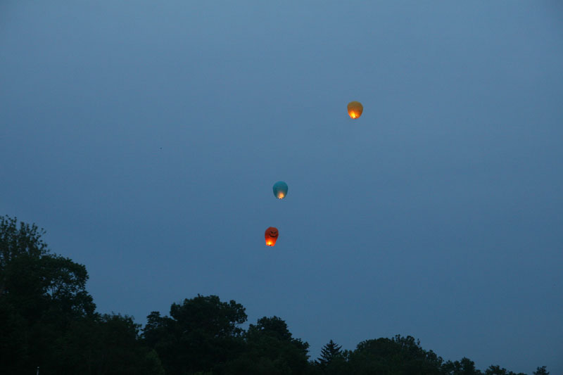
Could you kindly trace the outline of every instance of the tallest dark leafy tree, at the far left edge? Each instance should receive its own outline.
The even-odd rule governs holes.
[[[92,316],[83,265],[54,255],[35,224],[0,217],[0,364],[30,372],[53,357],[73,319]]]

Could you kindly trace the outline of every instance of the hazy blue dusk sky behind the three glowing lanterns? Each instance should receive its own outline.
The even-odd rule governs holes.
[[[563,374],[562,16],[1,1],[0,215],[141,324],[213,294],[281,317],[312,358],[401,334]]]

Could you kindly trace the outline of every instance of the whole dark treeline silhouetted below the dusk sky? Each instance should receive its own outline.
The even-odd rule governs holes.
[[[469,358],[444,361],[411,336],[375,338],[343,350],[329,341],[320,357],[283,319],[248,329],[234,300],[197,295],[150,312],[144,327],[100,314],[84,265],[51,253],[44,231],[0,217],[0,374],[381,374],[521,375]],[[549,374],[538,367],[534,375]]]

